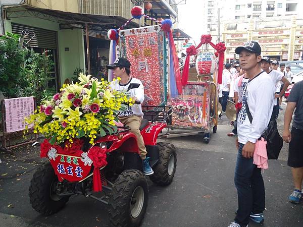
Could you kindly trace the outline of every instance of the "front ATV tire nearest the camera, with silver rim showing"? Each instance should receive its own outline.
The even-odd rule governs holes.
[[[109,196],[109,219],[114,226],[139,226],[148,201],[147,180],[141,171],[127,169],[114,183]]]

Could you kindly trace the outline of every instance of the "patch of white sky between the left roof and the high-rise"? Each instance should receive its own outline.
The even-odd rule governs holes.
[[[179,28],[186,34],[191,36],[196,44],[199,43],[200,37],[203,34],[207,34],[207,31],[201,29],[201,13],[203,13],[203,2],[206,0],[186,0],[186,4],[178,5],[179,14]],[[180,2],[180,0],[176,0]]]

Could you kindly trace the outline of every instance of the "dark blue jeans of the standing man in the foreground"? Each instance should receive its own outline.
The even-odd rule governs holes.
[[[235,168],[235,186],[238,192],[238,211],[235,221],[241,226],[249,222],[249,214],[262,213],[265,209],[265,188],[261,168],[253,164],[254,158],[244,158],[239,143],[239,151]]]

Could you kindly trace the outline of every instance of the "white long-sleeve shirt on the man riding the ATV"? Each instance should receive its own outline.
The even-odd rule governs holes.
[[[133,88],[129,90],[131,97],[136,97],[137,101],[140,103],[144,100],[144,88],[140,80],[136,78],[131,78],[131,80],[127,84],[120,84],[118,80],[111,82],[111,88],[117,91],[127,91],[130,84],[139,84],[138,88]],[[133,104],[129,106],[126,111],[120,112],[120,117],[129,117],[132,115],[137,115],[143,117],[142,106],[141,104]]]

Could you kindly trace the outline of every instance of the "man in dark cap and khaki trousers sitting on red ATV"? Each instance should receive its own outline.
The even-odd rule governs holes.
[[[112,65],[107,65],[108,69],[112,69],[115,77],[120,77],[121,80],[115,80],[111,82],[111,88],[113,90],[126,90],[130,92],[130,95],[135,103],[126,111],[119,113],[119,120],[125,126],[130,128],[130,132],[137,137],[139,154],[143,161],[143,173],[147,175],[154,174],[153,169],[149,165],[149,157],[146,157],[146,148],[144,145],[143,137],[140,133],[140,125],[143,120],[143,112],[141,103],[144,100],[144,88],[140,80],[130,76],[130,62],[125,58],[118,58]],[[134,88],[129,87],[130,84],[136,84]],[[130,89],[129,89],[130,88]]]

